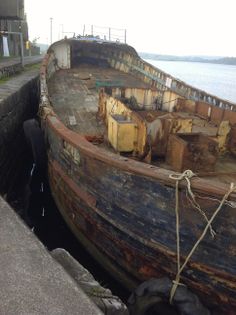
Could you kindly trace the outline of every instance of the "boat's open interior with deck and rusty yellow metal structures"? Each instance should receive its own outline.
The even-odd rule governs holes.
[[[132,73],[81,63],[48,84],[60,120],[94,145],[176,172],[236,181],[236,116],[158,91]],[[235,113],[234,113],[235,114]]]

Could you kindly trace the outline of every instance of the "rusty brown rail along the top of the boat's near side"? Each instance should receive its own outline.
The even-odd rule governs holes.
[[[87,141],[83,136],[67,128],[59,120],[55,113],[51,113],[47,116],[46,119],[49,126],[54,130],[55,133],[58,134],[58,136],[73,145],[75,148],[82,150],[88,156],[118,167],[123,171],[150,177],[160,181],[160,183],[164,185],[175,187],[175,180],[171,179],[169,176],[171,174],[176,174],[176,172],[145,164],[139,161],[134,161],[126,157],[118,156],[116,153],[108,152],[103,148],[98,148]],[[223,197],[225,193],[229,190],[229,185],[225,183],[208,180],[201,177],[193,177],[191,180],[191,185],[192,188],[196,190],[196,192],[214,197]],[[186,188],[186,182],[182,181],[180,183],[180,187]],[[230,199],[236,200],[236,193],[232,193]]]

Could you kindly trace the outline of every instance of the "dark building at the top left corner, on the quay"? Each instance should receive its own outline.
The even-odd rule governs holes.
[[[0,0],[0,32],[21,32],[24,47],[28,41],[28,24],[24,11],[24,0]],[[10,56],[20,56],[20,36],[17,34],[0,34],[0,56],[3,53],[3,38],[7,37]],[[6,39],[5,39],[6,45]],[[27,54],[25,52],[25,54]]]

